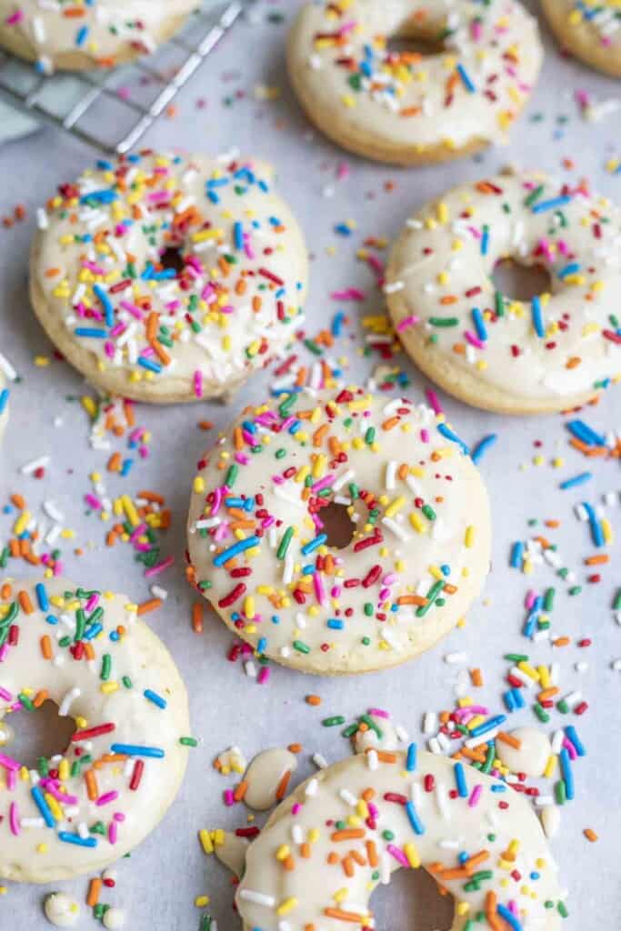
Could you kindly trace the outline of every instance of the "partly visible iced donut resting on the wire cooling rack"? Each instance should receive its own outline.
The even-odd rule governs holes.
[[[198,0],[0,0],[0,46],[49,74],[110,68],[153,52]]]

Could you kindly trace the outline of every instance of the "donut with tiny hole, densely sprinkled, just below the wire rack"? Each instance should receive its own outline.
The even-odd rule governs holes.
[[[101,160],[41,211],[34,312],[103,391],[222,397],[302,322],[304,239],[249,159],[144,152]]]

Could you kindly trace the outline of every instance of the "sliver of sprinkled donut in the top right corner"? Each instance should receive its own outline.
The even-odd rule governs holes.
[[[542,6],[563,48],[598,71],[621,77],[619,0],[543,0]]]

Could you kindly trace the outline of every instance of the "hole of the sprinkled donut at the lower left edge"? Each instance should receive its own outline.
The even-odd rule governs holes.
[[[59,707],[46,701],[40,708],[25,708],[4,719],[11,728],[7,752],[28,769],[36,769],[41,757],[49,760],[69,746],[76,727],[73,718],[61,718]]]

